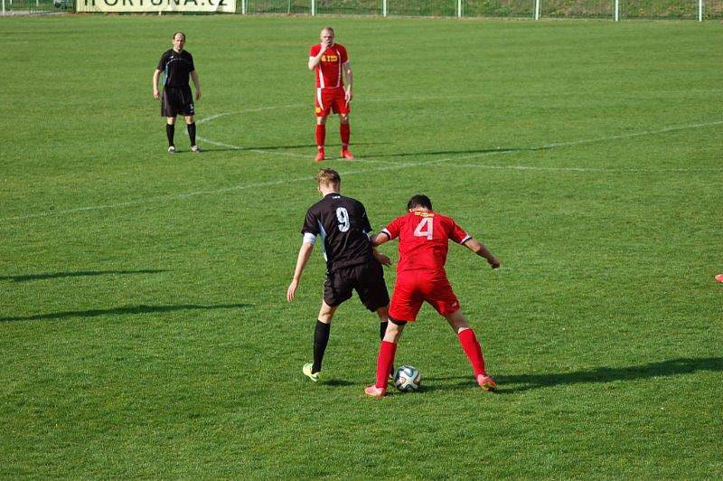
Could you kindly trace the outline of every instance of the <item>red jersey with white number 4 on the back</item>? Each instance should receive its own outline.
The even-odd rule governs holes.
[[[472,239],[456,222],[437,212],[409,212],[382,229],[390,239],[399,237],[397,272],[431,270],[445,272],[448,241],[462,244]]]

